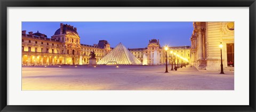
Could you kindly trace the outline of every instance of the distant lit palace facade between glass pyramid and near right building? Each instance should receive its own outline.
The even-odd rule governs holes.
[[[149,44],[145,48],[137,48],[137,49],[128,49],[132,52],[132,54],[138,58],[141,62],[145,62],[147,60],[147,65],[164,65],[165,64],[165,50],[164,47],[161,47],[159,44],[159,39],[151,39],[149,40]],[[170,47],[167,51],[167,64],[171,64],[171,53],[179,54],[181,57],[187,59],[190,62],[190,46],[174,46]],[[146,58],[143,58],[145,57]],[[144,61],[143,61],[144,59]],[[180,60],[181,63],[187,63],[185,60]],[[173,55],[173,62],[177,63],[177,58]],[[187,63],[188,64],[188,63]],[[145,65],[143,63],[143,65]]]

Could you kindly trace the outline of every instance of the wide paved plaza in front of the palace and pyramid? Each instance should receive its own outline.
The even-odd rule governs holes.
[[[165,66],[22,67],[22,90],[234,90],[234,72]]]

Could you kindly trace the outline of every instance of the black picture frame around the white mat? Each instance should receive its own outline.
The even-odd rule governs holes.
[[[0,0],[1,111],[255,111],[255,0]],[[13,106],[7,104],[7,7],[250,7],[250,105],[248,106]],[[248,66],[248,65],[245,65]]]

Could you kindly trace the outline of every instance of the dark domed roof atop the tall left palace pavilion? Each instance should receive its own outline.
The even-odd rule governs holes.
[[[78,34],[76,31],[76,27],[74,28],[73,26],[70,26],[67,24],[63,25],[63,23],[60,23],[60,28],[55,31],[54,35],[60,35],[61,28],[62,28],[62,34],[69,34],[69,33]]]

